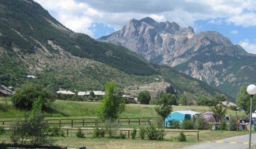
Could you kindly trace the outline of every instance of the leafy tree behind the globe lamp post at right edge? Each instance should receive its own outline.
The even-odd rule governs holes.
[[[256,96],[253,96],[253,101],[256,100]],[[244,109],[246,115],[249,114],[250,108],[251,108],[251,95],[247,93],[246,87],[241,87],[240,92],[237,94],[237,100],[236,100],[237,107],[240,107]],[[253,102],[252,110],[254,111],[256,109],[256,102]]]

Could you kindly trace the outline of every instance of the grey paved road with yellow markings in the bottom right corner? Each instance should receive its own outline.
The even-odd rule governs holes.
[[[256,134],[252,134],[251,145],[256,144]],[[209,140],[210,141],[210,140]],[[216,143],[223,142],[223,143]],[[225,142],[237,142],[236,144],[225,143]],[[214,140],[214,142],[206,142],[201,144],[196,144],[188,146],[182,149],[245,149],[248,148],[248,144],[243,144],[244,142],[249,142],[249,135],[240,135],[236,137]]]

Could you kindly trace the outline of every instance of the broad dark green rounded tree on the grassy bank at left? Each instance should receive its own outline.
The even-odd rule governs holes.
[[[15,107],[31,109],[35,100],[40,98],[42,104],[53,102],[56,96],[52,92],[44,89],[41,85],[35,83],[23,84],[21,89],[12,96],[12,102]]]

